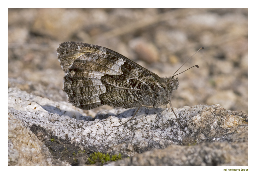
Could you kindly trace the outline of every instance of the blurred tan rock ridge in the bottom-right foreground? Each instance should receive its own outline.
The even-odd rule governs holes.
[[[248,134],[247,134],[248,136]],[[165,149],[136,154],[108,166],[248,166],[248,143],[202,143],[170,145]]]

